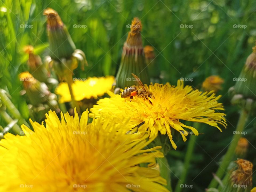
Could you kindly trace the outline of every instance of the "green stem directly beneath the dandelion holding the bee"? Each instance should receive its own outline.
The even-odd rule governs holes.
[[[162,146],[161,151],[162,151],[163,154],[165,154],[165,153],[164,153],[165,150],[164,150],[164,148],[163,148],[164,146],[163,146],[163,144],[162,144],[162,142],[161,142],[161,139],[160,139],[160,136],[159,136],[159,135],[157,136],[157,138],[155,138],[154,142],[155,142],[155,144],[156,144],[157,146]],[[160,175],[161,175],[163,178],[165,178],[166,181],[167,181],[167,186],[166,186],[166,188],[167,188],[170,192],[172,192],[173,190],[171,189],[171,169],[170,169],[170,166],[169,166],[169,164],[168,164],[168,161],[167,161],[166,156],[164,156],[164,157],[162,157],[162,158],[159,158],[158,161],[157,161],[157,163],[159,164]]]

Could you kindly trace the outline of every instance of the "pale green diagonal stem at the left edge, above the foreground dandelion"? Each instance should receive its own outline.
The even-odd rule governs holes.
[[[19,125],[26,125],[27,127],[30,128],[29,124],[25,119],[22,118],[21,114],[19,113],[18,109],[15,107],[15,105],[11,102],[11,100],[7,97],[5,94],[5,91],[3,89],[0,89],[0,97],[2,103],[5,104],[6,108],[10,112],[10,114],[14,117],[14,119],[18,119],[18,124]]]

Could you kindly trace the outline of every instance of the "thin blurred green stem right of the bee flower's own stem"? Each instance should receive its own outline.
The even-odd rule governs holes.
[[[195,125],[199,125],[199,124],[195,124]],[[187,145],[187,152],[185,155],[183,170],[181,173],[180,180],[178,181],[178,183],[176,185],[175,192],[181,192],[183,188],[181,188],[180,185],[185,184],[185,182],[186,182],[187,173],[189,172],[190,161],[191,161],[194,149],[195,149],[197,137],[198,136],[191,135],[189,138],[189,143]]]

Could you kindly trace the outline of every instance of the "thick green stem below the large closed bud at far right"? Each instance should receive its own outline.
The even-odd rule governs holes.
[[[219,169],[217,170],[216,172],[216,176],[218,178],[222,178],[223,175],[225,174],[226,172],[226,169],[227,167],[229,166],[230,164],[230,161],[232,160],[232,157],[234,155],[234,152],[235,152],[235,148],[237,146],[237,143],[238,143],[238,140],[239,138],[241,137],[241,132],[243,131],[243,129],[245,128],[245,123],[247,121],[247,117],[248,117],[248,112],[245,111],[244,109],[242,109],[241,113],[240,113],[240,117],[239,117],[239,120],[238,120],[238,123],[237,123],[237,128],[236,128],[236,133],[237,134],[234,134],[233,136],[233,139],[231,141],[231,144],[229,145],[229,148],[223,158],[223,160],[221,161],[221,165],[219,167]],[[217,188],[218,186],[218,182],[217,180],[215,180],[214,178],[211,180],[211,183],[210,185],[208,186],[208,188]]]

